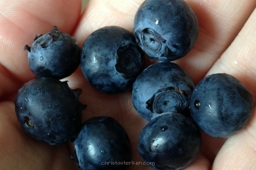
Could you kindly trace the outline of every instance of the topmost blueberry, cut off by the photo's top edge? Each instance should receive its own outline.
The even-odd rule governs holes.
[[[136,41],[152,61],[184,57],[198,32],[196,15],[183,0],[145,0],[134,19]]]

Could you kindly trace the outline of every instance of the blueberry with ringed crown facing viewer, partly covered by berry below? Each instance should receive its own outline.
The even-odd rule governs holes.
[[[183,68],[172,62],[159,62],[146,68],[134,82],[133,106],[148,121],[163,112],[187,114],[194,87]]]

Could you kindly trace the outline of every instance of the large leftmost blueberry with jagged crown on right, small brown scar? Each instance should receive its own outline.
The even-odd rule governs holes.
[[[23,130],[32,138],[50,145],[73,139],[81,128],[81,89],[51,77],[28,81],[18,92],[15,111]]]

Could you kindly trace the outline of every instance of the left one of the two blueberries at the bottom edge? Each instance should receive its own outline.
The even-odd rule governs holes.
[[[72,159],[80,170],[126,170],[128,165],[124,162],[130,162],[132,157],[128,135],[112,117],[85,121],[74,143]]]

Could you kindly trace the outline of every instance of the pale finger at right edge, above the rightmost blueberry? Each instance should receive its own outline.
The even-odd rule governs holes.
[[[207,73],[229,73],[240,80],[252,93],[256,104],[256,10],[231,46]]]

